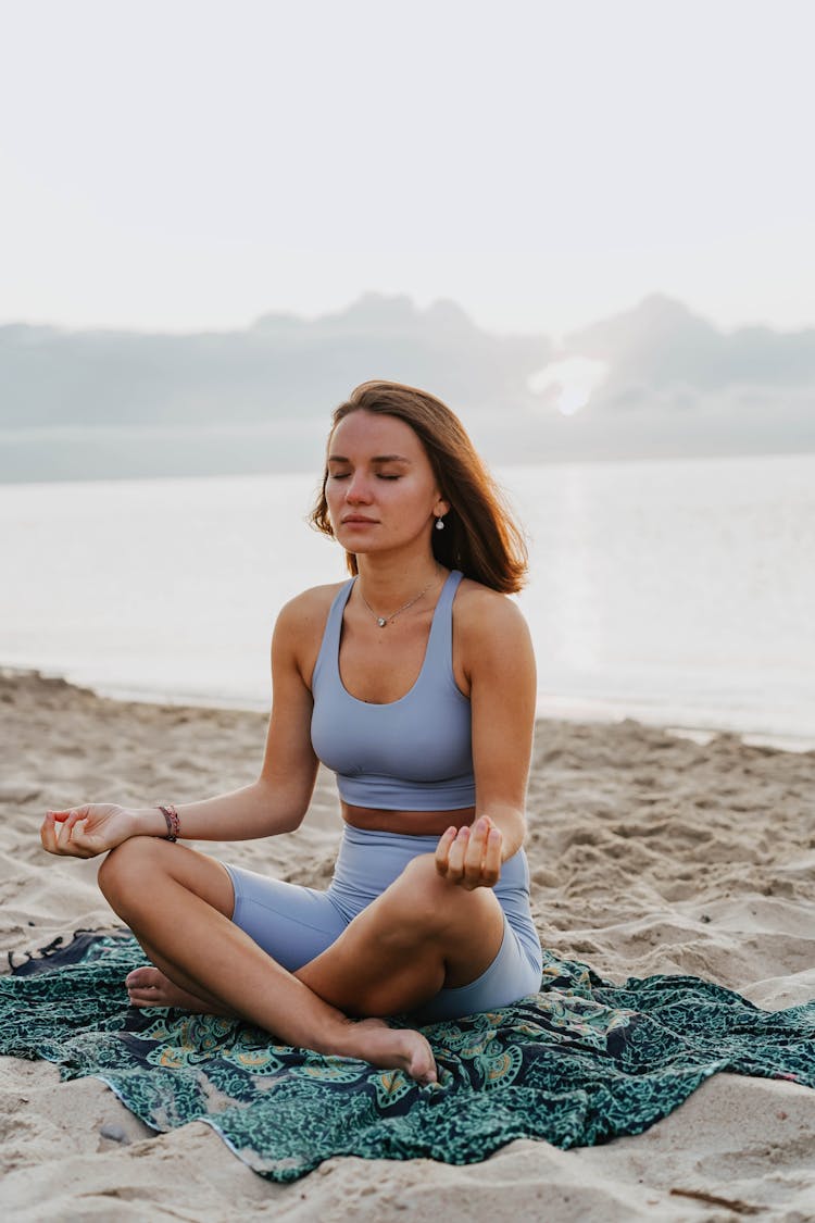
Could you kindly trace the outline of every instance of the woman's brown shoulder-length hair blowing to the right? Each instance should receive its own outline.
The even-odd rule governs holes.
[[[395,416],[409,424],[422,442],[439,490],[450,503],[445,530],[431,534],[436,560],[494,591],[505,594],[519,591],[528,566],[523,534],[455,412],[415,386],[367,382],[335,408],[331,433],[340,421],[358,411]],[[332,536],[325,498],[327,475],[326,467],[309,522]],[[358,572],[354,553],[346,553],[346,559],[349,572]]]

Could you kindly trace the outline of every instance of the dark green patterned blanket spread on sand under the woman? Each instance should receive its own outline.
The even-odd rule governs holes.
[[[613,986],[547,954],[538,994],[423,1029],[440,1081],[419,1087],[238,1021],[128,1008],[122,978],[144,963],[114,932],[12,966],[0,1053],[95,1075],[155,1130],[205,1121],[272,1180],[331,1156],[461,1164],[519,1137],[569,1147],[639,1134],[717,1070],[815,1087],[815,1002],[764,1011],[696,977]]]

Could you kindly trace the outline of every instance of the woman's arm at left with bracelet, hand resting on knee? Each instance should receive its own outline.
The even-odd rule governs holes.
[[[277,618],[271,640],[272,709],[260,775],[230,794],[180,805],[185,840],[249,840],[292,832],[302,823],[318,769],[310,737],[312,693],[302,659],[308,658],[319,632],[319,610],[309,591]],[[166,833],[166,821],[155,806],[92,804],[48,812],[40,838],[51,854],[94,857],[130,837]]]

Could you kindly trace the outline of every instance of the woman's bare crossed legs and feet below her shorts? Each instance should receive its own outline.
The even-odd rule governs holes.
[[[419,1032],[393,1030],[375,1018],[352,1022],[347,1014],[412,1010],[445,983],[475,980],[497,954],[503,932],[492,892],[447,883],[429,855],[408,863],[296,974],[232,923],[226,870],[194,850],[132,838],[109,854],[99,883],[155,965],[131,974],[134,1004],[237,1015],[287,1043],[400,1066],[428,1082],[435,1065]],[[149,976],[156,970],[160,977]]]

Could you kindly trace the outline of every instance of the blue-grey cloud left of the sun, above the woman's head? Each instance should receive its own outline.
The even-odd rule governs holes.
[[[0,328],[0,426],[326,418],[357,383],[389,378],[451,404],[512,410],[549,360],[545,336],[479,330],[450,301],[417,309],[367,294],[314,320],[268,314],[241,331],[189,335]]]

